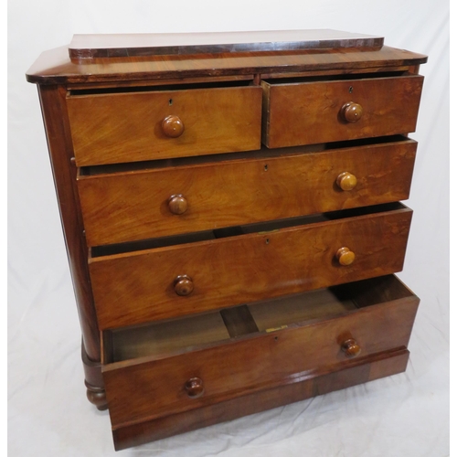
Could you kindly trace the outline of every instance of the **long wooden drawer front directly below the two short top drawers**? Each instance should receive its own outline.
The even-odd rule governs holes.
[[[297,148],[275,157],[80,176],[86,239],[98,246],[405,200],[416,148],[411,140],[319,153]],[[344,173],[356,177],[354,187],[338,181]],[[184,201],[184,212],[176,200]]]

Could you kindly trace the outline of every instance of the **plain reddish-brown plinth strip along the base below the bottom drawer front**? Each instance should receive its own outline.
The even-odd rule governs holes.
[[[409,351],[404,348],[375,356],[347,360],[333,367],[332,372],[312,371],[297,382],[269,388],[243,397],[208,404],[163,418],[141,423],[125,423],[113,427],[114,446],[117,451],[148,441],[161,440],[178,433],[196,430],[266,409],[278,408],[294,401],[310,399],[328,392],[349,388],[379,377],[388,377],[406,370]]]

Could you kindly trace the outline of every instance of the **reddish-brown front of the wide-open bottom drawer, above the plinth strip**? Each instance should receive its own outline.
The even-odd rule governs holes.
[[[343,346],[351,338],[361,349],[356,359],[405,347],[418,303],[417,297],[409,296],[342,317],[296,324],[191,353],[106,366],[103,377],[112,427],[200,408],[332,371],[348,363]],[[197,386],[186,390],[191,379]],[[196,397],[189,397],[192,394]]]

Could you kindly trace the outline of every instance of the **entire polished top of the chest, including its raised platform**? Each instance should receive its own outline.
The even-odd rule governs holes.
[[[69,46],[43,52],[27,71],[27,80],[108,83],[235,75],[249,80],[253,73],[268,76],[281,71],[291,76],[315,69],[376,70],[427,61],[423,54],[383,43],[383,37],[335,30],[75,35]]]

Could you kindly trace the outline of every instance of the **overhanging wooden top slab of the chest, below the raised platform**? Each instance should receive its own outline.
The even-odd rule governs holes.
[[[37,62],[27,71],[27,80],[38,84],[90,84],[123,81],[147,81],[175,79],[180,82],[188,78],[221,77],[232,75],[278,74],[304,71],[359,70],[415,67],[427,61],[427,56],[405,49],[383,46],[376,51],[355,52],[354,49],[338,49],[321,52],[310,49],[299,54],[252,52],[246,56],[229,53],[217,56],[203,55],[200,58],[167,57],[156,58],[94,58],[81,64],[69,59],[67,47],[52,49],[41,54]]]

